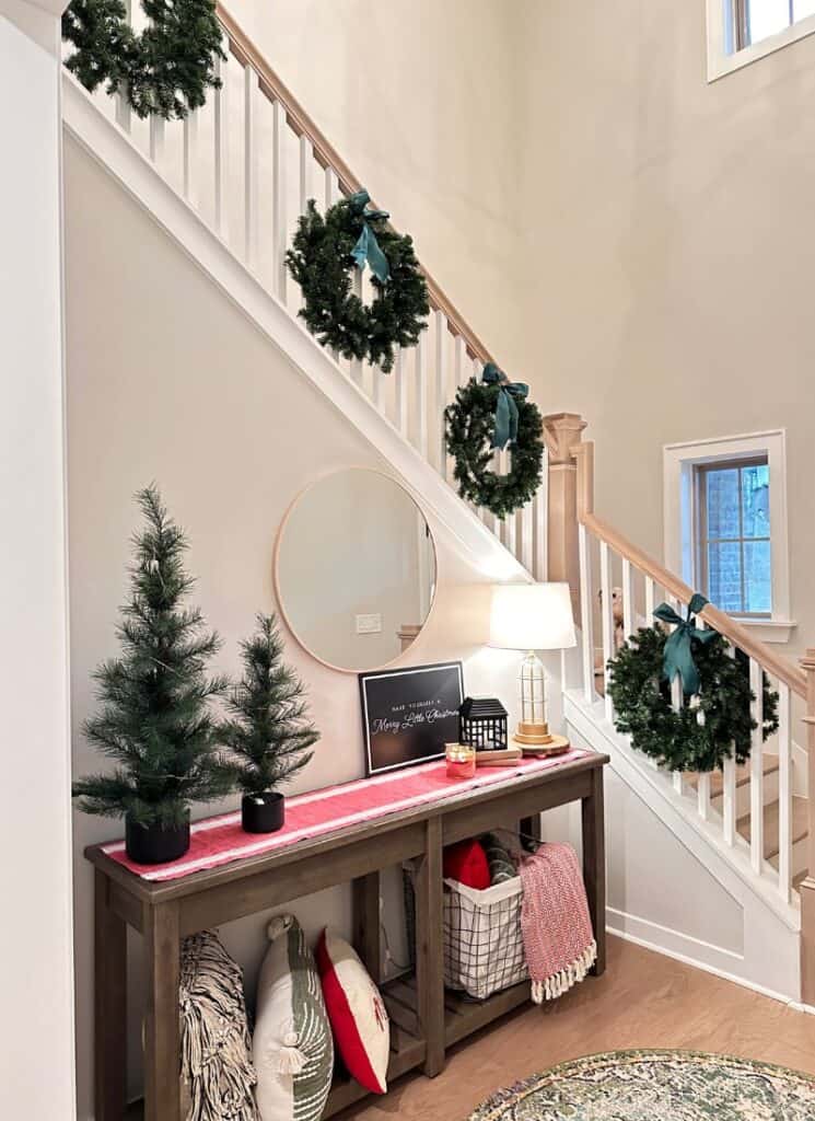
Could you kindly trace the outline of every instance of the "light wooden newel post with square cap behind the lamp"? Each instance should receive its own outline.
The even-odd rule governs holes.
[[[578,453],[587,421],[579,413],[551,413],[543,418],[549,461],[547,576],[569,584],[575,617],[580,610],[578,557]]]

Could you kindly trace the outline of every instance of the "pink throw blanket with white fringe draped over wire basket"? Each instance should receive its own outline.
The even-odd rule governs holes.
[[[571,845],[543,844],[519,863],[521,932],[536,1004],[568,992],[597,958],[583,877]]]

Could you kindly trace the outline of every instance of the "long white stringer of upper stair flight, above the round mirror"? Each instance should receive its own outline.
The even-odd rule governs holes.
[[[435,517],[485,577],[532,578],[456,491],[343,373],[328,351],[241,263],[68,73],[63,75],[63,123],[71,137],[390,463],[423,509]]]

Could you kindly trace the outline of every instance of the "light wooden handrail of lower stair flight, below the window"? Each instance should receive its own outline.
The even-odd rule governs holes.
[[[681,600],[682,603],[690,603],[694,593],[693,589],[684,580],[668,572],[658,560],[648,556],[639,546],[634,545],[633,541],[629,541],[628,538],[624,537],[612,526],[609,526],[594,515],[591,485],[594,470],[593,442],[586,441],[578,444],[574,447],[574,454],[578,461],[578,521],[582,526],[586,526],[596,537],[599,537],[601,541],[610,546],[615,553],[629,560],[635,568],[639,568],[646,576],[649,576],[655,584],[664,587],[668,594]],[[799,697],[806,698],[806,674],[803,669],[799,669],[794,663],[777,655],[766,642],[755,638],[732,615],[721,611],[712,603],[709,603],[700,611],[700,617],[710,623],[714,630],[719,631],[720,634],[723,634],[733,646],[738,646],[740,650],[743,650],[744,654],[753,658],[780,682],[788,685]]]

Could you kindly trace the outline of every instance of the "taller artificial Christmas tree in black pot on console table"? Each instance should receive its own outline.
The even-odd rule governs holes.
[[[133,537],[131,597],[116,628],[122,652],[94,674],[102,706],[84,725],[119,766],[74,782],[73,795],[87,814],[124,815],[129,855],[154,863],[186,852],[189,804],[228,794],[235,772],[217,752],[209,707],[228,682],[205,674],[221,643],[200,611],[182,606],[194,584],[184,531],[154,487],[137,500],[147,527]]]

